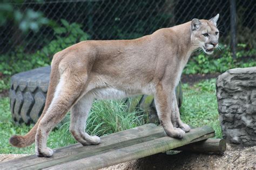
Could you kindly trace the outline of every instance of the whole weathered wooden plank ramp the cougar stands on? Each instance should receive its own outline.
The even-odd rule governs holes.
[[[214,130],[208,126],[192,129],[183,139],[174,139],[167,137],[161,126],[146,124],[101,137],[99,145],[61,147],[54,150],[51,158],[29,155],[3,162],[0,169],[98,169],[196,144],[210,137],[214,137]]]

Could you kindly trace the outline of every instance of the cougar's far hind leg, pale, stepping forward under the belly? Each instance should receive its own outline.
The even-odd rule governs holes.
[[[70,132],[73,137],[82,145],[97,145],[100,138],[85,133],[86,120],[89,115],[93,96],[85,94],[71,109]]]

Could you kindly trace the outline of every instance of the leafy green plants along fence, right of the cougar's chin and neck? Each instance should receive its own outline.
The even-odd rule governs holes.
[[[238,44],[238,47],[237,60],[233,60],[230,47],[225,45],[220,45],[221,51],[219,52],[219,58],[205,53],[192,56],[183,70],[183,73],[223,73],[231,68],[256,66],[256,49],[247,51],[246,44]]]

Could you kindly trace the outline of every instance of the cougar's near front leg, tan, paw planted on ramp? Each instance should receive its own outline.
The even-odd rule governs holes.
[[[172,94],[173,90],[170,87],[159,85],[154,95],[154,102],[156,103],[158,118],[165,133],[173,138],[183,138],[185,132],[180,128],[174,128],[171,122],[173,95],[170,94]]]

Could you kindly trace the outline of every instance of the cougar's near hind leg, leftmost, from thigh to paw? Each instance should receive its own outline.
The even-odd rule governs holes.
[[[83,75],[80,74],[79,77],[77,75],[73,71],[66,70],[60,76],[50,107],[37,128],[36,154],[38,157],[51,157],[53,151],[46,147],[49,133],[64,118],[83,91],[87,80],[86,72]]]

